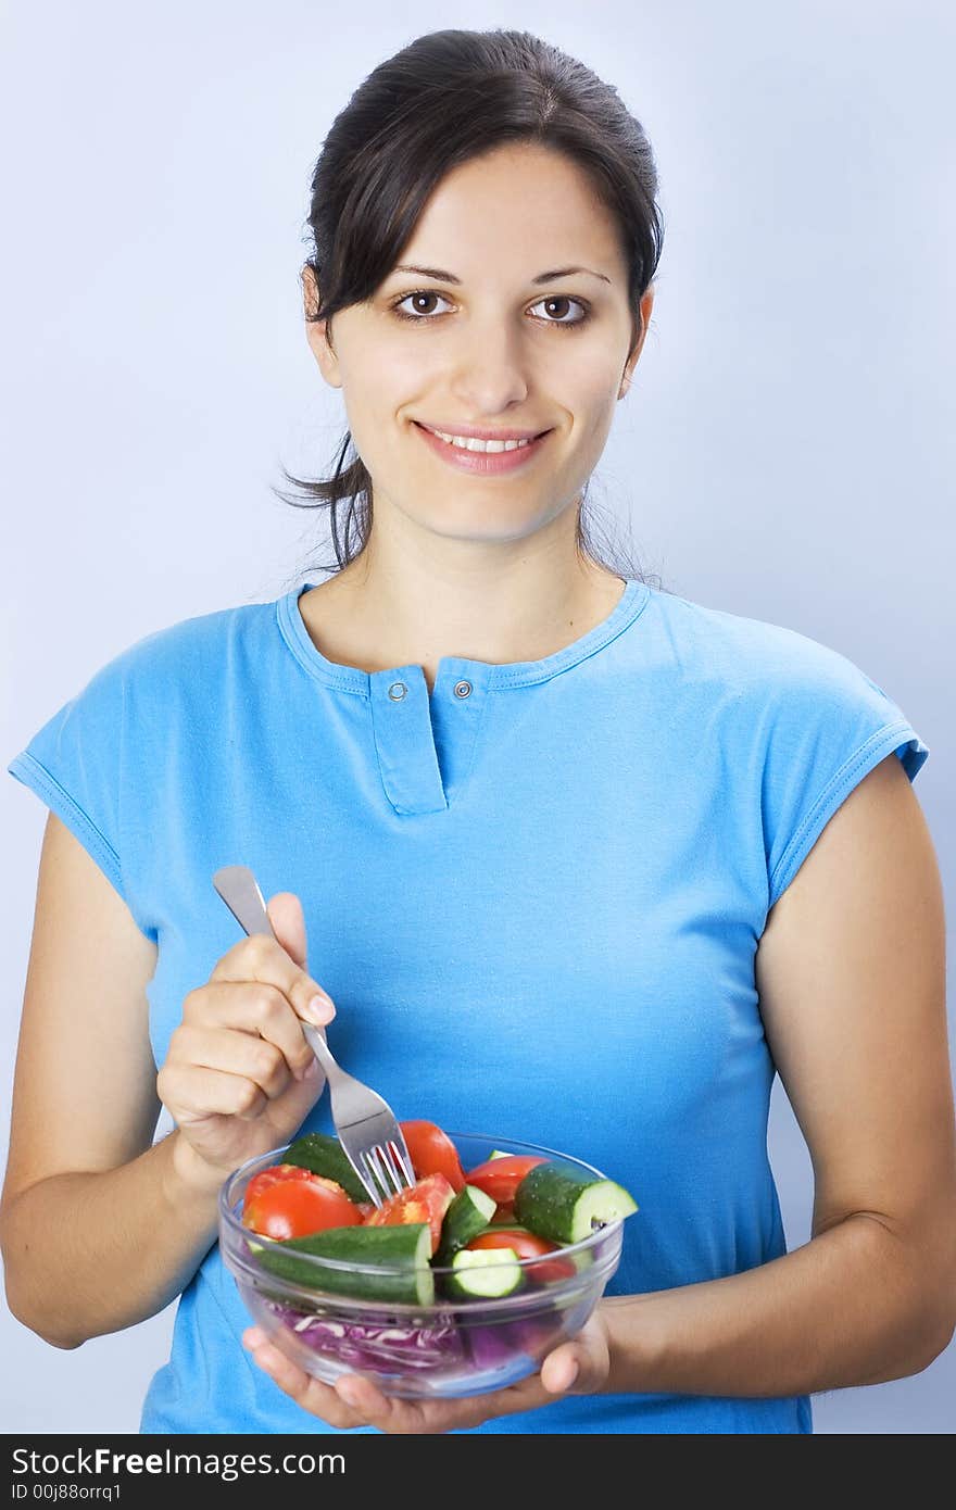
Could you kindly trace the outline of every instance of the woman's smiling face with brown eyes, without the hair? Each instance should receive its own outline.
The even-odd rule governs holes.
[[[310,269],[305,294],[314,308]],[[529,143],[449,172],[397,267],[329,328],[334,350],[325,322],[308,341],[343,390],[376,516],[474,541],[524,538],[580,497],[643,344],[616,222],[571,159]],[[500,470],[427,433],[456,427],[547,435]]]

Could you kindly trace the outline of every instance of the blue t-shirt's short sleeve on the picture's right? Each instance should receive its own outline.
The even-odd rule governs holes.
[[[929,757],[882,687],[837,651],[805,643],[813,654],[782,678],[766,723],[767,911],[868,772],[894,753],[912,782]]]

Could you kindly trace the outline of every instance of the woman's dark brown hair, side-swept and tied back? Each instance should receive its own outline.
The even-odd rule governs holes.
[[[628,266],[634,340],[640,300],[663,246],[654,154],[618,91],[591,68],[530,32],[441,30],[418,36],[379,63],[335,116],[313,169],[308,240],[319,305],[307,320],[370,299],[396,264],[430,193],[444,175],[510,142],[532,142],[571,157],[616,217]],[[304,284],[305,290],[305,284]],[[328,479],[302,480],[282,468],[299,497],[273,492],[298,509],[328,509],[341,571],[372,532],[372,477],[349,447],[349,430]],[[619,554],[603,556],[584,516],[575,545],[628,580],[648,577]],[[304,501],[305,500],[305,501]],[[344,519],[340,510],[344,506]],[[657,580],[657,578],[654,578]]]

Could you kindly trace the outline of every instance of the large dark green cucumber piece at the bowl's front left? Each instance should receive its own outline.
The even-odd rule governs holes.
[[[381,1265],[381,1273],[358,1268],[319,1268],[299,1258],[332,1258],[344,1264]],[[263,1268],[293,1285],[304,1285],[353,1300],[399,1300],[430,1306],[435,1299],[435,1276],[429,1267],[432,1229],[427,1222],[400,1226],[326,1228],[308,1237],[290,1237],[273,1247],[261,1247]]]

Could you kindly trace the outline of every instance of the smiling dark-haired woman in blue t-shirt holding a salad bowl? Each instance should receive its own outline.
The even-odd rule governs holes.
[[[661,245],[612,88],[526,33],[423,36],[334,122],[310,225],[308,341],[358,451],[310,485],[338,569],[131,646],[9,767],[51,808],[11,1305],[76,1347],[183,1291],[145,1431],[811,1431],[814,1391],[953,1330],[927,747],[835,651],[586,548]],[[236,862],[278,942],[236,942],[210,882]],[[248,1326],[216,1193],[328,1128],[310,1015],[399,1116],[634,1193],[539,1374],[387,1400]],[[775,1071],[816,1178],[791,1253]]]

